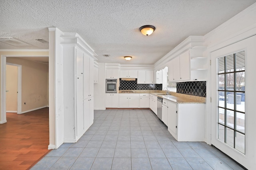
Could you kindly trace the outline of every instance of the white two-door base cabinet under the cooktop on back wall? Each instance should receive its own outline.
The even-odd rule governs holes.
[[[138,108],[139,94],[119,94],[120,108]]]

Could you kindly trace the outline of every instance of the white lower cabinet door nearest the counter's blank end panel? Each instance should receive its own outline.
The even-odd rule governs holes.
[[[177,134],[177,104],[168,102],[168,131]]]

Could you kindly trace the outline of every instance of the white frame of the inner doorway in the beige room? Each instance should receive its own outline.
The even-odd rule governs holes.
[[[21,86],[22,86],[22,65],[19,64],[13,64],[13,63],[6,63],[6,65],[11,65],[11,66],[17,66],[18,67],[18,89],[17,89],[17,114],[21,114],[21,96],[22,96],[22,91],[21,91]],[[6,70],[6,69],[5,69]],[[5,74],[6,75],[6,74]],[[6,78],[5,78],[6,80]],[[6,101],[6,99],[5,99]]]

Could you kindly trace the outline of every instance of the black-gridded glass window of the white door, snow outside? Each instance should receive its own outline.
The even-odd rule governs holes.
[[[244,54],[218,59],[218,139],[245,154]]]

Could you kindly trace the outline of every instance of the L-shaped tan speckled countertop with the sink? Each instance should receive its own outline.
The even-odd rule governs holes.
[[[198,97],[198,96],[191,96],[186,94],[179,94],[176,92],[169,92],[170,95],[165,95],[166,91],[162,90],[120,90],[120,94],[122,91],[132,91],[133,93],[150,93],[154,94],[160,98],[170,100],[171,102],[175,102],[177,104],[204,104],[206,103],[206,98]]]

